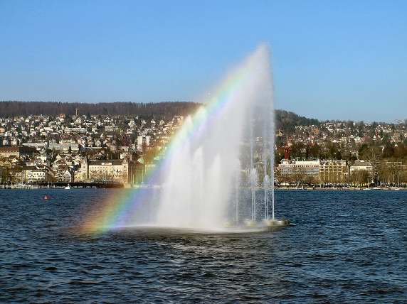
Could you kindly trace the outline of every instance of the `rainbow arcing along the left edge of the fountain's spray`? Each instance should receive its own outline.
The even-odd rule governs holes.
[[[171,158],[182,151],[186,139],[199,136],[205,126],[210,125],[213,119],[221,115],[223,110],[231,104],[234,94],[238,91],[242,82],[248,77],[245,65],[239,67],[226,78],[223,85],[218,87],[216,94],[206,102],[206,107],[201,107],[195,114],[190,116],[189,122],[182,124],[181,128],[171,137],[169,145],[159,152],[159,163],[145,173],[147,184],[154,185],[160,172],[168,168]],[[137,206],[145,201],[148,191],[142,188],[123,190],[119,194],[114,191],[106,197],[102,204],[93,205],[93,210],[88,211],[88,217],[83,220],[80,227],[85,234],[102,234],[110,229],[125,227],[131,222],[129,217],[134,214]]]

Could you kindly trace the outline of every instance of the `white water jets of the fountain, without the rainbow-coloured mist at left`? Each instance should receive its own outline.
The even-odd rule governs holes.
[[[166,156],[166,165],[162,170],[162,192],[154,225],[213,230],[231,226],[231,222],[235,227],[240,224],[240,170],[236,170],[236,163],[239,163],[245,129],[250,129],[248,178],[251,214],[250,218],[244,221],[244,226],[288,224],[275,219],[274,212],[273,111],[273,79],[270,74],[269,51],[265,45],[261,45],[226,77],[206,107],[185,119],[181,130],[173,139]],[[256,188],[260,171],[255,168],[253,156],[253,121],[262,115],[265,214],[263,222],[258,222]],[[268,157],[270,176],[267,174]],[[268,217],[268,193],[271,193],[271,219]],[[232,216],[228,212],[231,202],[234,204]]]

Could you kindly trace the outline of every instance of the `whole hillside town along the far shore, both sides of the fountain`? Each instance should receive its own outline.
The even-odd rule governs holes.
[[[290,120],[292,113],[281,111],[276,116],[276,186],[406,187],[407,121]],[[183,121],[184,116],[176,114],[78,111],[0,118],[1,187],[142,185]],[[264,175],[262,141],[255,139],[259,187]],[[244,159],[243,185],[248,183]]]

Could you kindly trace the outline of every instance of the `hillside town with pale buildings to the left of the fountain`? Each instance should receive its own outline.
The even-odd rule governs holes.
[[[182,120],[80,114],[0,119],[0,181],[4,187],[139,185]]]

